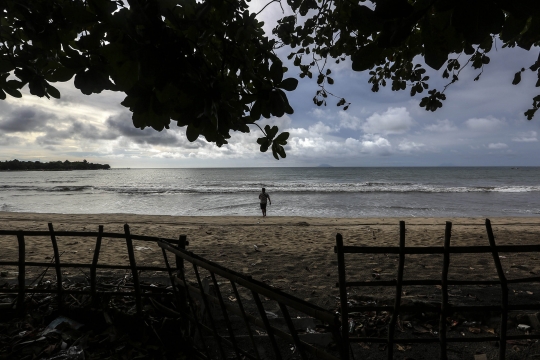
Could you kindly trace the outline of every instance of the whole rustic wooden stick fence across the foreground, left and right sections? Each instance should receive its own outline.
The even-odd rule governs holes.
[[[109,233],[99,226],[97,232],[55,231],[49,224],[49,231],[12,231],[0,230],[0,236],[14,236],[19,245],[17,261],[0,261],[0,266],[17,266],[19,269],[18,288],[0,288],[0,293],[17,295],[17,310],[25,311],[24,303],[27,294],[46,293],[56,294],[59,307],[67,295],[84,294],[93,299],[99,296],[132,296],[135,298],[137,312],[142,313],[141,299],[160,296],[168,293],[177,301],[174,311],[185,321],[186,334],[192,339],[195,350],[200,358],[226,359],[230,356],[249,359],[282,359],[297,355],[302,359],[315,357],[326,360],[347,360],[350,358],[351,344],[358,342],[379,343],[387,345],[387,357],[394,356],[394,345],[404,343],[440,344],[440,358],[447,359],[447,344],[453,342],[499,342],[499,359],[506,356],[506,342],[509,340],[540,339],[540,335],[509,335],[507,329],[508,313],[511,311],[540,310],[538,303],[509,304],[508,286],[511,284],[527,284],[540,282],[539,276],[528,278],[507,279],[499,259],[500,253],[540,252],[539,245],[496,245],[491,223],[486,220],[489,246],[451,246],[452,223],[446,223],[444,245],[435,247],[406,247],[405,223],[400,222],[399,246],[394,247],[358,247],[345,246],[341,234],[336,236],[334,248],[338,258],[338,283],[340,294],[340,312],[332,313],[302,299],[282,292],[264,282],[252,279],[250,276],[232,271],[212,261],[204,259],[190,251],[185,235],[179,239],[163,239],[152,236],[141,236],[130,233],[128,225],[124,233]],[[26,241],[30,237],[49,237],[54,251],[51,262],[27,261]],[[93,237],[95,248],[91,263],[62,262],[58,248],[60,237]],[[99,264],[99,256],[103,239],[124,240],[129,255],[129,265]],[[162,250],[164,266],[137,265],[133,240],[151,241]],[[451,280],[448,279],[450,254],[491,254],[497,270],[497,280]],[[397,254],[397,276],[394,280],[350,281],[345,271],[345,254]],[[441,254],[443,266],[439,279],[405,280],[404,263],[406,255],[412,254]],[[171,265],[169,258],[174,257],[175,264]],[[186,266],[187,265],[187,266]],[[56,272],[56,287],[53,289],[36,289],[26,285],[26,269],[28,267],[51,267]],[[90,269],[90,287],[83,290],[67,289],[63,286],[63,268]],[[97,286],[98,269],[129,270],[133,283],[116,287]],[[163,271],[169,277],[172,290],[156,289],[141,284],[140,271]],[[440,302],[429,304],[402,303],[402,290],[410,285],[440,286]],[[449,286],[495,285],[501,288],[500,305],[457,305],[450,302]],[[394,287],[393,305],[349,305],[348,291],[355,287]],[[360,337],[349,333],[349,317],[352,312],[387,311],[391,313],[386,337]],[[396,337],[395,330],[400,314],[410,311],[429,311],[438,314],[438,338],[401,338]],[[458,311],[497,312],[501,314],[500,331],[498,336],[481,337],[450,337],[446,325],[446,317]],[[279,315],[278,315],[279,314]],[[308,320],[312,328],[299,326],[299,321]],[[313,334],[313,328],[319,332]],[[304,331],[302,331],[304,330]],[[311,330],[311,331],[307,331]],[[310,336],[325,337],[328,342],[335,344],[333,349],[317,345]],[[291,345],[292,344],[292,345]],[[232,354],[232,355],[231,355]]]

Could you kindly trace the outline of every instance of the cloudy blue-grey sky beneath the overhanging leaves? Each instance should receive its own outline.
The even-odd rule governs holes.
[[[264,2],[252,1],[258,11]],[[283,16],[277,5],[261,14],[270,34]],[[104,91],[86,96],[72,81],[56,83],[60,100],[8,96],[0,101],[0,160],[70,160],[110,164],[113,168],[272,167],[272,166],[540,166],[540,114],[529,121],[537,76],[527,70],[517,86],[514,73],[538,58],[538,48],[501,49],[489,54],[491,63],[480,81],[478,70],[466,68],[445,94],[443,108],[427,112],[419,107],[422,96],[409,90],[371,92],[366,73],[354,72],[347,60],[330,63],[335,84],[328,89],[350,103],[347,111],[329,99],[317,107],[312,98],[315,80],[300,79],[288,98],[294,114],[261,118],[259,124],[278,125],[291,136],[287,158],[275,160],[261,153],[261,133],[232,133],[229,144],[218,148],[203,138],[190,143],[185,128],[136,129],[131,113],[120,105],[124,96]],[[288,50],[280,49],[285,59]],[[430,85],[439,90],[447,83],[440,72],[428,71]],[[298,78],[292,65],[286,77]],[[421,94],[422,95],[422,94]]]

